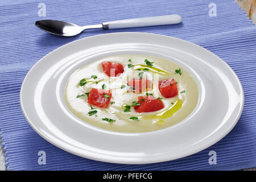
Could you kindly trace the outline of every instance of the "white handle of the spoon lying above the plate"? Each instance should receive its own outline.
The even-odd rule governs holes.
[[[104,25],[104,29],[113,29],[113,28],[159,26],[164,24],[177,24],[180,22],[181,22],[180,15],[164,15],[164,16],[152,16],[147,18],[114,20],[114,21],[105,22],[102,24]]]

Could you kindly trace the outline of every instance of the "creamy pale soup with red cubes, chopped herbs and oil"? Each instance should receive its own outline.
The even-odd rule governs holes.
[[[106,62],[107,66],[121,65],[117,68],[113,64],[109,76],[108,68],[102,67]],[[115,75],[115,69],[121,73]],[[75,71],[67,81],[64,97],[68,109],[90,125],[139,133],[164,129],[185,119],[195,109],[199,91],[193,77],[169,60],[122,55]]]

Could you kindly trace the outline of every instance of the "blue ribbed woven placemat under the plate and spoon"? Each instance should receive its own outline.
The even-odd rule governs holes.
[[[232,0],[214,0],[216,16],[209,16],[210,1],[1,1],[0,6],[0,129],[10,170],[38,169],[241,169],[256,167],[256,28]],[[43,6],[41,6],[43,7]],[[44,13],[39,11],[39,13]],[[86,31],[73,38],[49,35],[35,27],[40,19],[58,19],[79,25],[143,16],[179,14],[183,23],[172,26]],[[237,125],[220,142],[195,155],[170,162],[122,165],[96,162],[69,154],[46,142],[28,125],[19,105],[24,76],[41,57],[59,46],[91,35],[139,31],[171,35],[199,44],[220,56],[240,78],[245,107]],[[46,164],[38,164],[38,152]],[[216,151],[217,164],[208,162]]]

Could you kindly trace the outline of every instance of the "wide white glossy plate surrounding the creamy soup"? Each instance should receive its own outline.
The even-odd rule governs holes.
[[[68,77],[91,61],[129,54],[162,57],[187,69],[199,86],[193,113],[147,133],[108,131],[76,118],[64,102]],[[164,162],[204,150],[233,129],[243,100],[238,77],[220,57],[185,40],[138,32],[91,36],[57,48],[34,65],[20,90],[24,116],[48,142],[84,158],[123,164]]]

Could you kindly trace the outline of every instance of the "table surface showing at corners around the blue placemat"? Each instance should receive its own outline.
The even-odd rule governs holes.
[[[256,25],[256,0],[234,0],[240,5],[240,7],[246,12],[252,22]],[[5,156],[1,146],[0,138],[0,171],[5,171]],[[245,171],[256,171],[256,168],[242,169]]]

